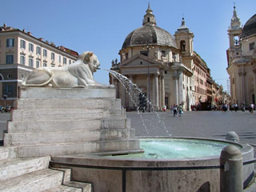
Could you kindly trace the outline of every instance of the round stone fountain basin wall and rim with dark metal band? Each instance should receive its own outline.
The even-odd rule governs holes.
[[[156,146],[155,138],[142,138],[143,142],[147,142]],[[154,142],[152,142],[154,141]],[[250,145],[238,144],[234,142],[226,142],[221,140],[213,140],[206,138],[158,138],[159,142],[186,142],[188,146],[196,148],[195,143],[199,146],[207,142],[210,146],[221,146],[220,151],[225,146],[234,145],[242,151],[243,161],[246,162],[254,158],[254,149]],[[193,143],[193,145],[192,145]],[[179,150],[182,150],[180,148]],[[184,149],[183,149],[184,150]],[[217,154],[209,153],[197,156],[179,157],[178,154],[174,158],[160,157],[159,153],[147,151],[146,157],[138,157],[142,154],[80,154],[66,155],[54,157],[56,162],[66,162],[68,167],[72,169],[72,177],[76,181],[94,183],[94,191],[123,191],[125,181],[126,191],[219,191],[220,190],[220,169],[219,157]],[[160,150],[158,152],[161,153]],[[128,152],[127,152],[128,153]],[[190,150],[186,151],[190,154]],[[155,156],[155,155],[158,156]],[[210,155],[207,155],[210,154]],[[77,165],[86,166],[77,166]],[[89,167],[88,166],[94,166]],[[204,169],[205,166],[212,166],[211,169]],[[216,166],[216,168],[214,168]],[[66,167],[66,166],[65,166]],[[102,169],[105,167],[107,169]],[[124,171],[122,168],[126,167]],[[157,168],[156,170],[146,170],[146,168]],[[175,168],[166,170],[166,167]],[[183,169],[185,167],[185,169]],[[189,167],[186,169],[186,167]],[[191,167],[202,167],[194,169]],[[140,169],[141,168],[141,169]],[[125,176],[124,176],[125,172]],[[243,166],[243,182],[244,186],[248,186],[254,178],[254,164]]]

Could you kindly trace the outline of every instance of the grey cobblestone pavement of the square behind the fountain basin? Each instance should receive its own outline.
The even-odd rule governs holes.
[[[225,139],[235,131],[242,143],[256,145],[256,112],[185,111],[182,117],[166,112],[127,112],[136,136],[199,137]],[[145,126],[143,126],[143,122]]]

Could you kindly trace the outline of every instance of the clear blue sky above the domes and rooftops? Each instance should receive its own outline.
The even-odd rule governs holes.
[[[36,38],[66,46],[78,54],[86,50],[98,55],[101,68],[110,69],[118,58],[126,36],[142,26],[148,0],[1,0],[0,25],[6,23]],[[256,14],[255,0],[237,0],[236,10],[242,25]],[[157,25],[170,34],[181,26],[194,33],[194,50],[206,61],[211,76],[226,90],[227,35],[233,15],[231,0],[151,0]],[[106,71],[94,74],[98,82],[108,83]]]

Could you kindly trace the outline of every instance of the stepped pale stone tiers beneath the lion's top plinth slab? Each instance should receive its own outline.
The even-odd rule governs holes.
[[[138,150],[115,98],[20,98],[4,134],[18,158]]]

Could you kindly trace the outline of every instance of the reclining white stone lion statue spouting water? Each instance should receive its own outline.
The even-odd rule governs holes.
[[[94,81],[94,72],[98,70],[100,63],[97,56],[90,51],[82,53],[78,60],[69,66],[42,67],[34,69],[22,81],[22,86],[52,86],[58,88],[76,88],[86,86],[104,85]]]

